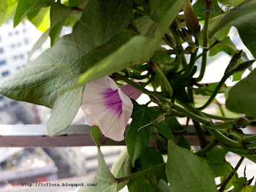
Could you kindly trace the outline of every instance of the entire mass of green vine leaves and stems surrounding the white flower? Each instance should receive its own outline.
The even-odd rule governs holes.
[[[127,185],[129,191],[211,192],[217,191],[214,178],[221,177],[225,180],[221,188],[233,184],[233,192],[255,192],[252,180],[245,176],[237,179],[225,155],[234,152],[256,163],[256,136],[246,137],[241,129],[256,122],[255,60],[237,50],[237,34],[229,33],[235,26],[244,45],[256,56],[256,1],[212,1],[211,8],[217,10],[209,15],[204,8],[210,1],[198,0],[193,8],[184,9],[185,1],[190,6],[188,0],[0,0],[0,24],[14,19],[17,26],[28,19],[44,32],[28,60],[51,37],[50,49],[0,83],[2,95],[52,109],[47,122],[50,136],[67,129],[88,94],[84,85],[101,77],[111,77],[118,86],[130,84],[156,105],[132,100],[132,122],[125,132],[127,150],[120,154],[113,173],[99,147],[102,125],[92,128],[99,168],[86,184],[97,186],[79,191],[118,191]],[[224,13],[222,4],[243,11]],[[204,26],[201,31],[197,27],[184,29],[197,26],[198,20]],[[70,26],[72,33],[60,37],[63,26]],[[220,52],[230,56],[224,76],[220,82],[202,83],[205,67]],[[198,66],[200,75],[195,77]],[[247,68],[250,75],[239,81]],[[239,81],[235,86],[225,84],[230,76]],[[225,94],[225,104],[215,98],[218,93]],[[217,115],[202,111],[210,104],[215,104]],[[187,125],[180,125],[180,120]],[[200,141],[198,152],[189,145],[191,134]],[[209,134],[214,138],[211,143],[206,137]],[[228,177],[232,172],[235,176]]]

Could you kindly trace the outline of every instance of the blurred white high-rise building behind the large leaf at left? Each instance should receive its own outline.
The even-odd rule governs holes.
[[[13,28],[13,20],[0,28],[0,81],[26,66],[28,54],[42,32],[29,22]],[[42,52],[42,50],[40,51]],[[0,124],[36,123],[35,106],[0,95]]]

